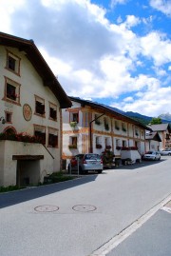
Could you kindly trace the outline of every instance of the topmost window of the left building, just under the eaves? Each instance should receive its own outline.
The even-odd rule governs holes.
[[[7,51],[6,68],[18,75],[20,74],[20,58],[11,53],[9,50]]]

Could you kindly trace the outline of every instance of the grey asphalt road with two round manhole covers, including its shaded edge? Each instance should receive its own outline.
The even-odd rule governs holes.
[[[171,194],[171,157],[0,195],[1,256],[87,256]]]

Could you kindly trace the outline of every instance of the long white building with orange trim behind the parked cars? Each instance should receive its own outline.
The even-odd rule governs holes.
[[[114,108],[76,97],[69,97],[72,108],[63,109],[63,159],[78,153],[105,149],[116,158],[141,158],[146,151],[145,129],[141,123]],[[127,156],[127,157],[126,157]]]

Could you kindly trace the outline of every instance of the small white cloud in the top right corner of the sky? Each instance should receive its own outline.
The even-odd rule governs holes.
[[[171,2],[170,0],[150,0],[150,5],[156,10],[160,10],[164,14],[171,17]]]

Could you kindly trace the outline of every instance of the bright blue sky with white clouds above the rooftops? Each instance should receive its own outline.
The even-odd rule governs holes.
[[[67,95],[171,113],[170,0],[0,0],[0,30],[33,39]]]

